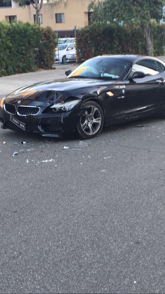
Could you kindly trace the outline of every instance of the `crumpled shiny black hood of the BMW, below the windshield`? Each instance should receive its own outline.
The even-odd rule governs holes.
[[[6,96],[6,102],[28,104],[30,101],[59,103],[68,97],[82,98],[85,95],[96,95],[107,89],[124,85],[123,81],[107,81],[89,78],[65,78],[27,85]]]

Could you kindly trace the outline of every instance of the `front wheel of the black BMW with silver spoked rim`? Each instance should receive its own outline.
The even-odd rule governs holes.
[[[104,124],[104,114],[101,106],[94,101],[87,101],[84,106],[88,108],[79,119],[77,132],[79,137],[90,139],[101,132]]]

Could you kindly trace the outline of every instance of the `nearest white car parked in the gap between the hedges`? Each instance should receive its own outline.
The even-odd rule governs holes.
[[[59,44],[58,47],[55,49],[55,63],[66,63],[66,55],[69,51],[73,50],[74,47],[75,43]]]

